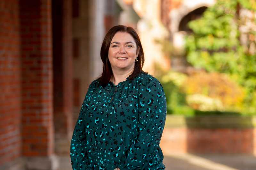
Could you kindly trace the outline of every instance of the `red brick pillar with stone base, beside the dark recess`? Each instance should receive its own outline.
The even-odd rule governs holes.
[[[27,169],[57,169],[54,156],[51,0],[20,0],[22,153]]]

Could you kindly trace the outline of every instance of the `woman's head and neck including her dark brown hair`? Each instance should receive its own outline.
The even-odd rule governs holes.
[[[140,38],[132,27],[126,26],[114,26],[108,31],[100,49],[100,57],[103,71],[99,79],[103,86],[109,81],[116,85],[128,76],[132,79],[141,72],[144,64]]]

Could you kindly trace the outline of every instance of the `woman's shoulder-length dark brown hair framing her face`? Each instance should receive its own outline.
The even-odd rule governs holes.
[[[142,45],[140,43],[139,35],[130,26],[123,26],[123,25],[113,26],[106,34],[106,36],[102,42],[101,49],[100,49],[100,58],[103,62],[103,71],[102,71],[101,76],[97,79],[100,81],[100,84],[103,86],[108,84],[111,76],[113,75],[112,68],[111,68],[110,62],[108,60],[108,49],[110,47],[110,43],[111,43],[114,35],[117,32],[129,33],[133,37],[134,41],[136,42],[137,50],[138,50],[138,47],[140,47],[138,61],[137,62],[135,61],[134,70],[133,70],[132,74],[129,76],[129,79],[134,78],[135,76],[140,74],[141,71],[143,71],[142,66],[144,64],[145,59],[144,59],[144,53],[143,53]]]

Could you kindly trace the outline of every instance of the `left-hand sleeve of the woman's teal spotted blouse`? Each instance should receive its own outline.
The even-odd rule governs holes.
[[[95,89],[95,80],[89,85],[88,91],[85,95],[78,119],[76,121],[75,129],[70,143],[70,159],[73,170],[91,169],[86,153],[86,134],[84,110],[88,107],[88,102]]]

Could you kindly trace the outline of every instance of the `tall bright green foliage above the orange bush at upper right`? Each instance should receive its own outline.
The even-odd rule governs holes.
[[[246,25],[239,11],[251,10],[255,14],[255,0],[218,0],[208,8],[203,17],[188,23],[193,34],[187,36],[187,60],[196,68],[204,68],[209,72],[226,73],[247,92],[244,103],[256,107],[256,54],[250,53],[249,45],[255,45],[256,19],[254,26],[246,33],[241,26]],[[250,41],[241,42],[244,34]],[[254,43],[254,44],[253,44]]]

